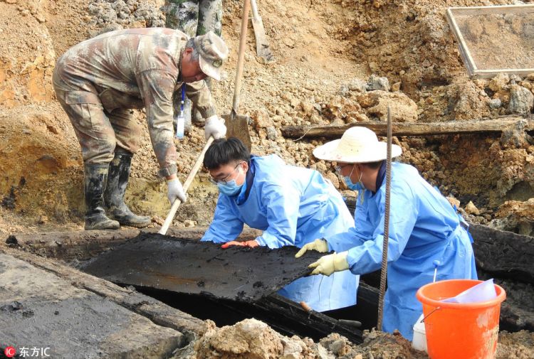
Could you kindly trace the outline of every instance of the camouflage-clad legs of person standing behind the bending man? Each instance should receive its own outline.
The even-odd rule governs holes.
[[[221,36],[222,0],[165,0],[162,11],[165,14],[165,27],[183,31],[190,38],[209,31]],[[209,78],[206,84],[211,89]],[[174,99],[175,109],[179,109],[179,101],[179,97]],[[192,119],[195,124],[203,123],[198,109],[194,107],[192,111],[189,98],[184,102],[184,117],[186,133],[189,132]]]

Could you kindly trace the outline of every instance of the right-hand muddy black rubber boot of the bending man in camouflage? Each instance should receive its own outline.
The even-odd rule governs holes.
[[[120,147],[115,149],[115,158],[110,162],[104,201],[111,218],[118,220],[121,225],[142,228],[150,225],[150,217],[135,215],[124,203],[126,186],[128,186],[128,179],[130,178],[132,156],[133,154],[125,149]]]

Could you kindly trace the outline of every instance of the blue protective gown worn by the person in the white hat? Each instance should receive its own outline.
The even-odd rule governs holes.
[[[386,181],[375,194],[365,191],[356,203],[355,227],[326,238],[330,249],[348,250],[354,274],[374,272],[382,264],[385,196]],[[416,168],[393,163],[383,331],[397,328],[412,340],[412,326],[423,311],[415,293],[432,282],[436,259],[441,262],[436,281],[477,278],[471,240],[449,201]]]

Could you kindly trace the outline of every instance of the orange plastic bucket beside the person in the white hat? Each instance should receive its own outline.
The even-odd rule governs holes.
[[[451,279],[422,286],[417,299],[423,304],[426,345],[431,359],[495,358],[501,303],[506,292],[495,284],[497,297],[478,303],[444,303],[482,283],[473,279]]]

